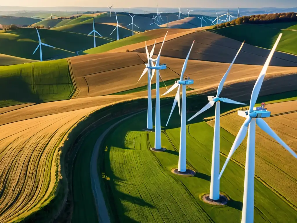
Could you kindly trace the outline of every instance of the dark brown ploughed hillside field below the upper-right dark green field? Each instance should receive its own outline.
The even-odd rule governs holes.
[[[161,56],[185,59],[193,40],[194,46],[189,59],[213,62],[231,63],[241,42],[221,36],[219,34],[201,31],[168,40],[164,43]],[[156,44],[154,54],[158,54],[161,43]],[[149,47],[151,50],[152,46]],[[134,52],[145,53],[142,47]],[[236,59],[237,64],[264,65],[270,50],[244,44],[241,53]],[[275,52],[270,63],[271,66],[297,66],[297,56],[282,52]]]

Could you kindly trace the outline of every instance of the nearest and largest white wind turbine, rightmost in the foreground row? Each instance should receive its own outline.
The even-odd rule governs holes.
[[[238,148],[238,146],[241,144],[243,139],[247,135],[247,155],[246,155],[246,163],[245,163],[245,174],[244,174],[244,195],[243,195],[243,206],[242,206],[242,216],[241,216],[241,222],[242,223],[253,223],[254,222],[254,181],[255,181],[255,136],[256,136],[256,124],[268,135],[270,135],[273,139],[275,139],[280,145],[285,147],[286,150],[288,150],[295,158],[297,158],[296,153],[290,149],[290,147],[285,144],[282,139],[279,138],[279,136],[269,127],[269,125],[262,119],[265,117],[270,117],[270,113],[267,110],[254,110],[254,106],[256,103],[256,100],[258,98],[261,85],[263,83],[263,79],[265,77],[267,68],[269,66],[269,63],[271,61],[271,58],[274,54],[274,51],[277,48],[277,44],[279,43],[280,38],[282,37],[282,34],[279,34],[279,37],[277,38],[276,43],[274,44],[274,47],[272,48],[264,66],[263,69],[257,78],[257,81],[255,83],[255,86],[252,91],[251,100],[249,104],[249,111],[238,111],[238,115],[242,117],[246,117],[246,120],[244,121],[243,125],[241,126],[234,143],[231,147],[231,150],[228,154],[228,157],[226,159],[226,162],[222,168],[222,171],[219,175],[219,178],[221,178],[228,161],[230,160],[231,156],[235,152],[235,150]]]

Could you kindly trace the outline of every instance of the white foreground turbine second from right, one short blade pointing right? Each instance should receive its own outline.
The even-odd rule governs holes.
[[[210,180],[210,192],[209,192],[209,198],[212,200],[219,200],[220,198],[220,181],[218,179],[218,176],[220,173],[220,102],[244,105],[244,103],[240,103],[228,98],[219,98],[219,94],[223,89],[223,85],[228,76],[228,73],[230,72],[231,67],[235,62],[236,57],[241,51],[241,48],[243,45],[244,45],[244,42],[241,44],[241,47],[239,48],[236,56],[234,57],[232,63],[230,64],[227,72],[222,77],[222,80],[220,81],[217,89],[217,95],[215,97],[208,96],[209,102],[206,104],[206,106],[204,106],[199,112],[197,112],[188,120],[188,121],[191,121],[193,118],[195,118],[202,112],[205,112],[207,109],[211,108],[212,106],[214,106],[214,104],[216,104],[215,119],[214,119],[214,141],[212,145],[211,180]]]

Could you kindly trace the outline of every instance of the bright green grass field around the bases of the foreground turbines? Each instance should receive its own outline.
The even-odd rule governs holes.
[[[161,109],[169,114],[171,105]],[[183,178],[170,171],[178,164],[180,117],[174,112],[170,124],[162,132],[162,147],[167,152],[152,153],[154,133],[141,129],[146,114],[123,123],[107,137],[102,172],[106,194],[113,207],[116,222],[238,222],[241,218],[244,169],[228,164],[221,178],[221,191],[230,197],[226,206],[212,206],[201,201],[209,192],[213,128],[199,120],[187,125],[187,165],[195,169],[195,177]],[[213,111],[206,113],[206,116]],[[190,116],[190,114],[189,114]],[[165,125],[167,116],[162,119]],[[228,154],[235,136],[221,128],[221,152]],[[225,157],[220,156],[221,167]],[[276,209],[277,207],[277,209]],[[276,211],[277,210],[277,211]],[[166,220],[164,220],[166,219]],[[211,220],[210,220],[211,219]],[[274,192],[255,180],[255,222],[296,222],[297,213]]]

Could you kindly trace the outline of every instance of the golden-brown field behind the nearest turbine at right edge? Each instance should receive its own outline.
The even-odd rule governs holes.
[[[290,111],[296,108],[296,101],[282,102],[267,105],[272,114]],[[291,108],[289,108],[291,105]],[[266,118],[268,125],[284,140],[295,152],[297,152],[297,112]],[[236,136],[244,118],[236,113],[222,116],[221,127]],[[214,120],[208,122],[214,126]],[[256,127],[256,159],[255,175],[264,184],[268,184],[272,190],[278,191],[280,196],[295,205],[297,208],[297,163],[296,159],[285,148],[275,142],[268,134]],[[246,137],[247,139],[247,137]],[[236,150],[233,159],[245,165],[246,139]],[[229,149],[221,148],[221,153],[228,155]],[[228,167],[227,167],[228,169]]]

